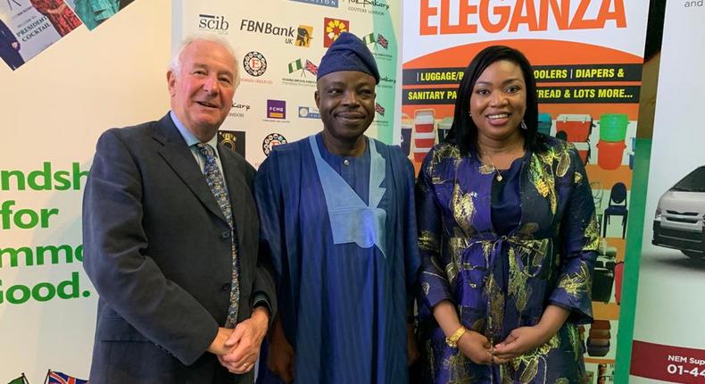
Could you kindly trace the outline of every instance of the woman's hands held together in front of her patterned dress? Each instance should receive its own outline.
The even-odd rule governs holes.
[[[499,344],[492,345],[485,335],[466,331],[458,340],[458,349],[476,364],[503,364],[542,346],[551,338],[549,332],[538,325],[512,330]]]

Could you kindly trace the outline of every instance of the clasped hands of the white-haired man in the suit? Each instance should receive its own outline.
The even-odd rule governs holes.
[[[252,371],[260,355],[261,341],[267,333],[268,324],[267,310],[257,307],[253,315],[237,323],[235,329],[220,327],[208,352],[217,355],[220,364],[232,373]]]

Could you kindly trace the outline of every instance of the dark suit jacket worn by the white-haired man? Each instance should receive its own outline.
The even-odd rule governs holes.
[[[219,145],[238,237],[239,321],[253,296],[274,310],[270,262],[258,258],[253,167]],[[98,140],[83,202],[84,268],[100,296],[93,383],[252,382],[205,352],[225,324],[230,230],[167,113]]]

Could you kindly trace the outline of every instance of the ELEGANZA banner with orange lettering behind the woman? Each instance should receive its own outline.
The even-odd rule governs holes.
[[[589,382],[610,380],[626,249],[626,215],[614,213],[626,213],[630,201],[648,3],[468,3],[405,4],[402,148],[418,170],[451,128],[462,71],[480,50],[506,45],[527,55],[538,83],[539,130],[575,144],[593,188],[602,239],[585,362]]]

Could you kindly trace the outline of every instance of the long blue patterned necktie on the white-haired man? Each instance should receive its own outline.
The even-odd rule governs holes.
[[[228,305],[228,319],[225,323],[226,328],[234,328],[237,322],[237,305],[240,302],[240,266],[237,258],[237,233],[233,221],[233,211],[230,206],[230,198],[225,190],[225,179],[220,173],[218,164],[215,162],[215,153],[213,147],[206,143],[196,144],[198,153],[203,156],[205,165],[203,166],[203,174],[208,182],[208,187],[211,188],[215,200],[220,206],[225,219],[230,226],[230,252],[233,256],[232,282],[230,284],[230,304]]]

